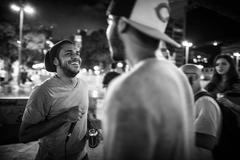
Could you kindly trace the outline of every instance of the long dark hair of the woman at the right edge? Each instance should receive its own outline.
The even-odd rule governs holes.
[[[235,67],[235,63],[234,63],[233,58],[230,55],[222,54],[222,55],[216,56],[215,59],[214,59],[214,63],[213,63],[214,72],[213,72],[213,76],[212,76],[211,81],[219,82],[222,78],[222,75],[218,74],[217,71],[216,71],[216,63],[221,58],[225,59],[230,64],[230,68],[229,68],[228,72],[226,73],[227,80],[229,81],[229,83],[231,83],[231,81],[234,81],[234,80],[238,79],[239,75],[238,75],[237,69]]]

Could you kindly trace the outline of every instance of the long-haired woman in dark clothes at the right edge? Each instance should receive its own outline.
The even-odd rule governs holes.
[[[205,88],[219,103],[240,113],[240,77],[231,56],[215,58],[213,76]]]

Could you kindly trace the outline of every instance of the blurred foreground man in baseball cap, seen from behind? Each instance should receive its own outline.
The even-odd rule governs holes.
[[[189,160],[194,155],[194,98],[185,75],[157,59],[168,0],[113,0],[106,31],[111,57],[131,70],[109,86],[103,120],[105,160]]]

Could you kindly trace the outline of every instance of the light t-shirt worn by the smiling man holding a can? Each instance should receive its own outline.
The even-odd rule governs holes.
[[[67,143],[68,159],[76,160],[86,154],[85,144],[79,143],[87,132],[88,89],[84,81],[78,79],[78,84],[73,88],[56,76],[46,80],[31,94],[22,121],[37,124],[77,105],[80,110],[85,111],[85,114],[80,121],[77,121]],[[65,123],[51,134],[42,137],[36,159],[64,160],[64,145],[69,127],[70,123]]]

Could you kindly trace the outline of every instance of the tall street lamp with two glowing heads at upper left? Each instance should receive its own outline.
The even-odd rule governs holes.
[[[20,74],[21,74],[21,62],[22,62],[22,32],[23,32],[23,19],[24,19],[24,12],[28,14],[33,14],[34,9],[29,5],[23,5],[22,3],[20,6],[16,4],[11,4],[10,8],[14,11],[19,12],[19,46],[18,46],[18,85],[20,85]]]

